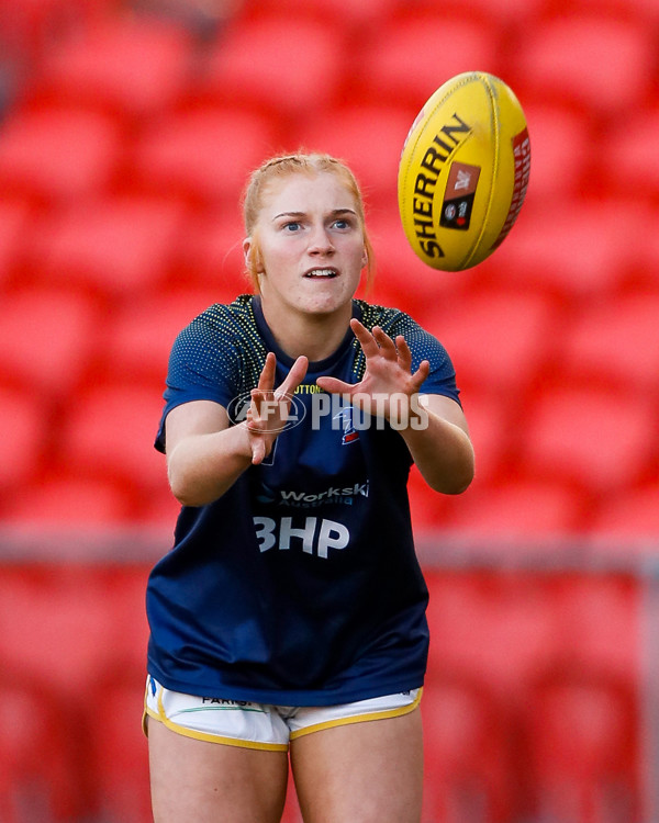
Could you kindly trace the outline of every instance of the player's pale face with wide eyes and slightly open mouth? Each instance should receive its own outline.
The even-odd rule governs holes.
[[[255,235],[269,319],[348,312],[367,262],[354,195],[331,172],[289,174],[263,198]],[[253,238],[244,243],[246,258]]]

